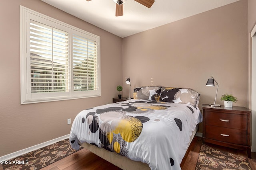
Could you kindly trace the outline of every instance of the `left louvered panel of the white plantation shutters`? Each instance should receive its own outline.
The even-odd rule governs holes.
[[[30,20],[31,93],[68,91],[68,33]]]

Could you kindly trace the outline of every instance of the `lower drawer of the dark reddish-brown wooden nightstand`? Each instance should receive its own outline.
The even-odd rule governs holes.
[[[234,143],[238,145],[246,145],[246,130],[231,129],[226,127],[217,127],[206,125],[206,135],[208,139],[214,139],[217,141],[223,141],[228,143]]]

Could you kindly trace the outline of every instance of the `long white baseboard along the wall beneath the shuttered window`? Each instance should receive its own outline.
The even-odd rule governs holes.
[[[69,134],[68,135],[65,135],[65,136],[62,136],[62,137],[58,137],[56,139],[52,139],[50,141],[47,141],[47,142],[44,142],[44,143],[40,143],[38,145],[34,145],[32,147],[29,147],[29,148],[26,148],[26,149],[22,149],[22,150],[18,150],[16,152],[13,152],[13,153],[10,153],[10,154],[7,154],[7,155],[4,155],[4,156],[1,156],[0,157],[0,162],[4,161],[4,160],[10,160],[12,158],[16,158],[17,156],[20,156],[20,155],[23,155],[23,154],[26,154],[28,152],[32,152],[33,150],[37,150],[37,149],[40,149],[40,148],[43,148],[43,147],[46,147],[48,145],[52,145],[56,142],[59,142],[59,141],[62,141],[64,139],[68,139],[69,138]]]

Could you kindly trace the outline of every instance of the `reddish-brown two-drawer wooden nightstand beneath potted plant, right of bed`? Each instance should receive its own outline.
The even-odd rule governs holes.
[[[251,110],[246,107],[211,107],[203,104],[203,143],[247,149],[251,158]]]

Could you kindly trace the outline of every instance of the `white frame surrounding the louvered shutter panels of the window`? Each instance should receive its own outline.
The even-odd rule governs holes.
[[[45,92],[33,94],[31,93],[30,80],[30,19],[41,21],[43,24],[49,26],[62,27],[68,31],[68,92]],[[56,24],[56,25],[55,25]],[[97,82],[96,90],[74,91],[73,86],[73,34],[83,35],[86,38],[90,37],[97,42]],[[52,102],[59,100],[70,100],[78,98],[90,98],[100,96],[100,37],[94,35],[62,21],[40,14],[36,11],[30,10],[24,6],[20,6],[20,98],[21,104]]]

